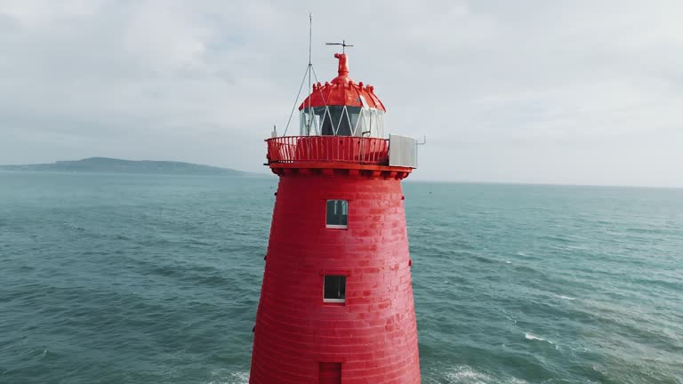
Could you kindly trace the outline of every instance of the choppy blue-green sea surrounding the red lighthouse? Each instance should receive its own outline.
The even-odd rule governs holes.
[[[276,188],[0,172],[0,383],[246,383]],[[683,189],[404,191],[422,383],[683,383]]]

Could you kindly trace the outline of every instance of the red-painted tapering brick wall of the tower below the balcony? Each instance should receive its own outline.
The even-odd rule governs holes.
[[[349,201],[347,229],[325,228],[325,202]],[[346,303],[323,303],[323,276],[345,275]],[[420,383],[400,180],[290,173],[280,177],[251,384]]]

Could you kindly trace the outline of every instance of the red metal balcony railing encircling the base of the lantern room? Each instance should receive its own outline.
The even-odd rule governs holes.
[[[389,164],[389,140],[355,136],[284,136],[266,140],[271,163]]]

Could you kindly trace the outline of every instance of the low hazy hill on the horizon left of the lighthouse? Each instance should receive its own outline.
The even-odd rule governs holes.
[[[171,161],[121,160],[108,157],[89,157],[83,160],[58,161],[52,164],[0,165],[5,171],[43,172],[117,172],[156,174],[199,174],[253,176],[258,173],[241,172],[229,168]]]

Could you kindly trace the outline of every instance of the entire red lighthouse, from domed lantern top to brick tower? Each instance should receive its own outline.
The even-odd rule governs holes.
[[[416,142],[386,135],[374,87],[314,84],[299,136],[273,137],[279,176],[251,384],[420,383],[401,180]]]

